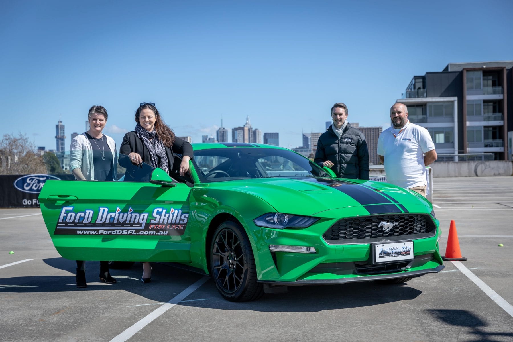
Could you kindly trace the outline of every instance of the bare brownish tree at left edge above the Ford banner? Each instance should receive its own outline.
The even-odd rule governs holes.
[[[27,135],[4,134],[0,140],[0,174],[46,173],[41,155]]]

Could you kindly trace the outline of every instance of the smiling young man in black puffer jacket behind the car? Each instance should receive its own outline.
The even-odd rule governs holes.
[[[369,179],[369,151],[365,136],[347,122],[347,106],[331,107],[333,124],[321,134],[314,162],[327,166],[339,178]]]

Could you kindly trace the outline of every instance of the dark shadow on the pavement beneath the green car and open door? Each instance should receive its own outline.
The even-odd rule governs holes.
[[[107,285],[98,280],[98,261],[86,262],[87,288],[75,287],[75,261],[64,258],[49,258],[43,260],[50,267],[71,272],[63,275],[38,275],[0,278],[1,292],[32,293],[32,292],[81,292],[125,290],[150,300],[166,303],[180,293],[202,275],[194,272],[152,263],[152,282],[143,284],[141,264],[135,263],[130,269],[112,270],[111,275],[119,281]],[[415,279],[411,280],[415,286]],[[253,310],[261,312],[316,312],[342,308],[367,307],[395,301],[410,300],[422,292],[403,285],[378,285],[372,281],[359,284],[326,285],[289,287],[284,294],[265,294],[256,301],[232,303],[221,297],[214,283],[209,280],[200,289],[185,298],[180,305],[215,308],[224,310]],[[105,293],[104,293],[105,295]],[[70,298],[72,298],[70,296]],[[194,300],[195,298],[209,300]],[[193,301],[187,301],[192,299]]]

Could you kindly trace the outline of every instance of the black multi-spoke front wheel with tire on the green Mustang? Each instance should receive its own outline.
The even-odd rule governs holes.
[[[210,244],[210,269],[216,288],[227,300],[255,300],[264,294],[264,286],[257,282],[249,238],[235,220],[226,220],[215,230]]]

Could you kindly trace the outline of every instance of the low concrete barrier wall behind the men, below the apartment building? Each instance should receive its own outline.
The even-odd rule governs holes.
[[[483,162],[436,162],[430,165],[433,177],[513,176],[513,161],[487,160]],[[385,175],[383,165],[373,165],[370,174]]]

